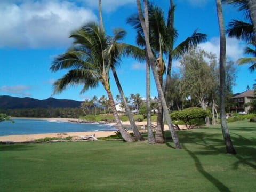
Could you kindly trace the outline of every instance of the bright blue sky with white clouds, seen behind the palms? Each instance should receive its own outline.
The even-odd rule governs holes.
[[[169,1],[153,1],[167,14]],[[215,1],[212,0],[174,0],[175,28],[180,43],[195,29],[208,35],[207,42],[200,44],[202,49],[219,55],[219,29]],[[0,1],[0,95],[47,99],[52,95],[52,83],[65,71],[51,73],[49,70],[54,57],[67,50],[71,44],[70,32],[89,21],[98,21],[97,0],[1,0]],[[127,31],[125,42],[134,44],[135,32],[126,24],[131,14],[137,13],[135,0],[102,0],[103,22],[106,32],[111,34],[115,27]],[[232,6],[223,6],[225,26],[231,19],[241,19],[243,14]],[[227,39],[227,57],[234,62],[244,57],[244,42]],[[179,65],[175,61],[175,66]],[[125,95],[140,93],[145,97],[145,67],[132,58],[123,58],[117,72]],[[252,88],[255,72],[248,66],[237,66],[236,86],[233,92],[243,92],[247,85]],[[113,79],[111,77],[111,79]],[[111,80],[113,95],[118,94]],[[107,95],[100,85],[97,89],[79,94],[81,86],[69,87],[58,99],[83,101],[93,95]],[[151,85],[151,95],[157,96],[155,84]]]

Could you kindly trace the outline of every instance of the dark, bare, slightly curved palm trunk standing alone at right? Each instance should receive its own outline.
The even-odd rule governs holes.
[[[220,28],[220,121],[223,139],[228,154],[236,154],[230,138],[225,111],[225,88],[226,88],[226,37],[223,23],[221,0],[216,0],[217,15]]]

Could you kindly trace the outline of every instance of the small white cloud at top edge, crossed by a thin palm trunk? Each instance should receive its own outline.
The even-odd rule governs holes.
[[[87,6],[98,9],[98,0],[81,0],[85,2]],[[102,0],[101,9],[103,12],[112,12],[115,11],[118,7],[124,5],[136,5],[135,0]]]

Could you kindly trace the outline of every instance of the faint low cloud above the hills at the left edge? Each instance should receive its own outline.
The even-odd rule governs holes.
[[[15,86],[1,86],[0,91],[9,94],[18,94],[21,96],[31,96],[27,91],[31,90],[31,87],[26,85],[15,85]]]

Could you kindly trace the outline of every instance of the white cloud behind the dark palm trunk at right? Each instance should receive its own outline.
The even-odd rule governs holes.
[[[236,62],[237,59],[243,57],[246,44],[234,38],[226,38],[226,57],[228,60]],[[199,44],[201,49],[206,52],[212,52],[219,58],[220,40],[217,37],[211,38],[210,41]]]

